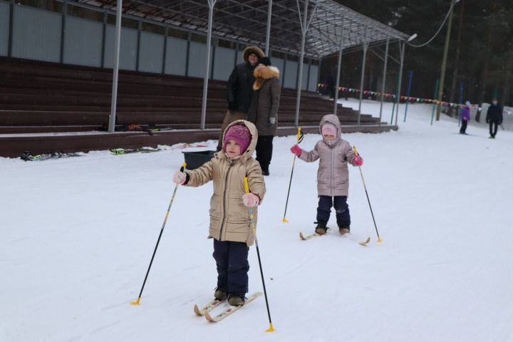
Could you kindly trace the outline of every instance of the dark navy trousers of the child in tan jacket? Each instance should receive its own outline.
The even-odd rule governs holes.
[[[217,287],[230,293],[246,294],[248,291],[249,247],[246,242],[219,241],[214,239],[214,257],[217,265]]]

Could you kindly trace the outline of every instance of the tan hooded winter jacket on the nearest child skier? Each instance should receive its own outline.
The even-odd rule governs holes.
[[[210,227],[209,237],[219,241],[246,242],[248,246],[254,243],[256,232],[251,229],[248,207],[244,206],[244,177],[248,177],[249,191],[264,199],[266,192],[264,177],[261,174],[259,162],[252,155],[257,146],[257,128],[246,120],[237,120],[229,124],[246,125],[252,134],[252,141],[246,152],[234,159],[220,151],[212,160],[204,163],[195,170],[185,170],[190,179],[186,186],[197,187],[212,180],[214,194],[210,198]],[[223,138],[224,140],[224,138]],[[257,227],[257,207],[253,208],[255,227]]]

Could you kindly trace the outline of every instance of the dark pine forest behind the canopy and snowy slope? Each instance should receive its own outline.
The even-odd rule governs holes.
[[[412,44],[428,41],[440,27],[451,0],[336,0],[354,11],[388,24],[407,34],[417,33]],[[513,1],[460,0],[452,14],[452,31],[447,57],[443,100],[452,103],[490,103],[499,98],[512,105],[513,69]],[[448,22],[448,21],[447,21]],[[435,98],[435,83],[440,78],[447,22],[427,46],[406,46],[403,85],[405,94],[408,76],[413,71],[411,95]],[[384,46],[367,53],[364,90],[380,91],[383,74]],[[341,86],[360,88],[362,52],[343,55]],[[390,45],[389,56],[399,60],[398,43]],[[383,56],[382,56],[383,57]],[[336,73],[337,56],[323,60],[321,81]],[[399,64],[388,60],[387,93],[395,93]]]

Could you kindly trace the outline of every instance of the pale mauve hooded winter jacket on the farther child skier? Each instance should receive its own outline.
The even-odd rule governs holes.
[[[319,124],[319,132],[322,126],[331,123],[337,129],[335,140],[328,145],[326,140],[319,140],[314,150],[307,152],[301,149],[299,159],[305,162],[315,162],[319,159],[317,171],[317,192],[324,196],[347,196],[349,190],[348,163],[354,163],[355,154],[351,145],[341,138],[341,124],[338,117],[333,114],[324,115]],[[322,133],[321,133],[322,134]]]

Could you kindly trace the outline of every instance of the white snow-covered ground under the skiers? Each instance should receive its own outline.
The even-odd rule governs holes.
[[[0,158],[0,341],[513,341],[513,133],[491,140],[472,124],[463,136],[445,115],[430,125],[431,108],[410,105],[403,123],[401,105],[397,132],[343,135],[365,160],[381,244],[356,167],[351,236],[299,240],[317,204],[317,163],[301,160],[281,223],[295,137],[274,140],[258,224],[274,333],[264,332],[263,296],[219,323],[192,311],[216,284],[211,185],[178,189],[140,306],[129,304],[175,188],[177,146]],[[363,103],[363,113],[378,110]],[[366,237],[367,247],[356,243]],[[249,290],[261,291],[255,247],[250,264]]]

